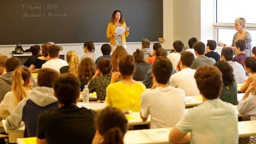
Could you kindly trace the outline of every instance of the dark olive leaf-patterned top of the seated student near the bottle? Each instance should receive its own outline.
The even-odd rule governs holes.
[[[92,79],[88,85],[90,93],[96,92],[97,100],[104,101],[106,98],[106,88],[111,81],[111,75],[106,74],[95,79]]]

